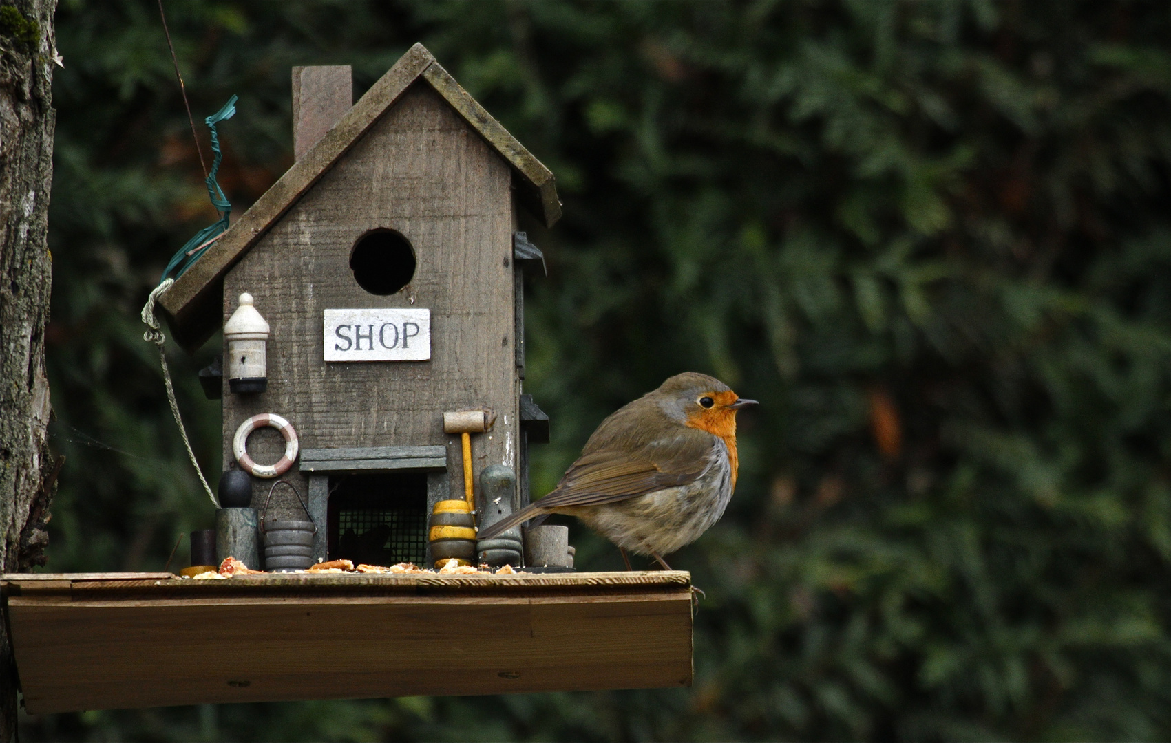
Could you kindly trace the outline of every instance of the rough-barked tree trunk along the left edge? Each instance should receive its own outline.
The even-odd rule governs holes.
[[[0,5],[0,569],[44,563],[56,462],[49,455],[44,322],[53,177],[56,0]],[[0,741],[16,728],[16,675],[0,624]]]

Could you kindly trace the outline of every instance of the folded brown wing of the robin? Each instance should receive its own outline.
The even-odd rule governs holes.
[[[607,447],[582,455],[540,501],[542,510],[614,503],[687,484],[712,462],[719,440],[697,428],[679,427],[676,435],[637,448]]]

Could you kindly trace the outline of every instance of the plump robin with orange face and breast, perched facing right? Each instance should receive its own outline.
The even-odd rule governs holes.
[[[719,521],[735,489],[735,414],[756,405],[714,377],[685,372],[602,421],[557,487],[479,534],[491,539],[546,514],[581,518],[626,552],[663,559]]]

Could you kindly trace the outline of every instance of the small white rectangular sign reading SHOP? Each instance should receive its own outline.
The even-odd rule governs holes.
[[[426,362],[431,310],[326,310],[327,362]]]

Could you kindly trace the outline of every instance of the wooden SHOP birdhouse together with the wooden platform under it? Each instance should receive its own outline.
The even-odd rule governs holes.
[[[561,527],[452,542],[528,504],[548,418],[523,393],[523,275],[545,261],[518,220],[561,205],[420,44],[350,90],[348,67],[294,69],[294,165],[159,296],[189,352],[224,329],[233,503],[306,524],[288,544],[316,560],[431,567],[447,539],[546,572],[6,576],[30,713],[690,684],[687,573],[571,572]]]

